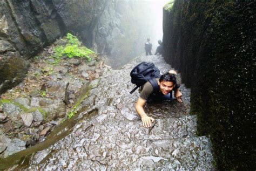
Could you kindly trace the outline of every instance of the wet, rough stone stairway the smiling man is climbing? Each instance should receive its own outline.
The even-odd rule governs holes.
[[[130,71],[142,60],[153,61],[161,72],[170,70],[163,58],[151,56],[105,72],[90,92],[94,103],[82,104],[98,113],[79,113],[82,119],[71,134],[33,155],[27,169],[214,170],[210,140],[196,135],[197,118],[189,114],[189,90],[184,86],[183,104],[147,105],[156,122],[151,128],[142,126],[134,109],[139,93],[129,93],[134,87]]]

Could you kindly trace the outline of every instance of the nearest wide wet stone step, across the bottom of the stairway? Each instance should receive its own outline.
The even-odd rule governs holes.
[[[48,162],[29,169],[214,170],[210,140],[205,136],[131,141],[126,145],[107,141],[89,144],[71,143],[51,153]]]

